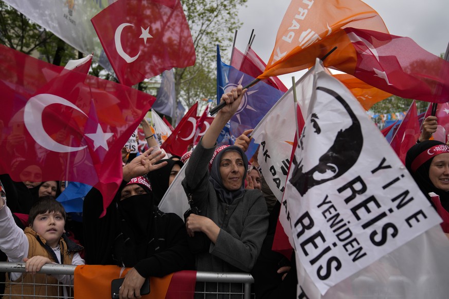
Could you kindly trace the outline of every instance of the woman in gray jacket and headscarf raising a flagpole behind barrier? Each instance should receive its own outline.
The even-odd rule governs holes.
[[[245,91],[239,85],[222,96],[227,105],[194,149],[183,180],[191,205],[199,210],[187,218],[187,233],[193,237],[203,232],[207,237],[206,250],[196,255],[198,271],[251,271],[268,228],[262,193],[245,190],[245,153],[238,146],[215,151],[215,141],[236,113]]]

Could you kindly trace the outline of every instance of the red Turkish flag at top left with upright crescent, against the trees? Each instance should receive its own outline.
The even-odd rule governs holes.
[[[179,0],[118,0],[92,18],[117,79],[131,86],[195,63],[192,35]],[[175,5],[173,8],[171,4]]]

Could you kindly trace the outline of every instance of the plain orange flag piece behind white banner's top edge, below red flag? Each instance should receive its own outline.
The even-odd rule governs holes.
[[[391,97],[391,94],[388,92],[366,84],[350,74],[339,73],[332,76],[342,82],[352,92],[365,110],[369,110],[375,103]]]

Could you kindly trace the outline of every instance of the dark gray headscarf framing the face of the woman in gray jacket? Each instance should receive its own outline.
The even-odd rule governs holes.
[[[229,152],[229,151],[234,151],[234,152],[239,153],[240,156],[242,156],[243,164],[245,165],[245,172],[243,173],[242,185],[240,186],[240,189],[234,190],[234,191],[227,190],[223,186],[223,180],[222,180],[221,175],[220,175],[221,157],[223,156],[224,153]],[[248,158],[246,157],[246,155],[243,152],[243,150],[240,147],[236,146],[236,145],[231,145],[231,146],[225,147],[224,149],[222,149],[220,151],[220,153],[218,153],[213,158],[212,167],[210,169],[209,180],[212,182],[213,187],[215,189],[215,192],[217,192],[217,194],[227,204],[232,203],[232,201],[234,201],[235,199],[240,198],[241,196],[244,195],[244,193],[245,193],[245,177],[246,177],[247,170],[248,170]]]

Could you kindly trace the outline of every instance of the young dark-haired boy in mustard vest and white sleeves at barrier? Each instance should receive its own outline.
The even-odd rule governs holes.
[[[8,261],[25,261],[26,269],[23,274],[8,273],[5,294],[67,296],[66,288],[61,290],[57,285],[73,285],[72,275],[36,274],[45,264],[84,265],[78,253],[83,248],[63,235],[65,218],[61,203],[45,196],[32,205],[29,227],[22,231],[15,225],[6,200],[0,198],[0,249]]]

